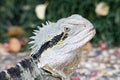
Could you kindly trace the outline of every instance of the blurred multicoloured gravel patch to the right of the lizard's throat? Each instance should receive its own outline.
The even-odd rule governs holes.
[[[83,52],[72,80],[120,80],[120,49]]]

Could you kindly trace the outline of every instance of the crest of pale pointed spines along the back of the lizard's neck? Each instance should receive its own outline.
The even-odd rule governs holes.
[[[29,44],[32,45],[30,47],[32,50],[31,54],[35,54],[39,50],[41,45],[44,43],[44,39],[47,36],[47,32],[50,30],[50,28],[52,28],[53,24],[54,23],[50,21],[46,21],[46,24],[42,23],[42,27],[37,26],[37,30],[34,30],[34,36],[30,37],[31,41],[29,42]]]

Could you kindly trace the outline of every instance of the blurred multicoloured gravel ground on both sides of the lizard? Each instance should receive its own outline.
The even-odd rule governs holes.
[[[0,53],[0,71],[13,67],[29,52]],[[120,49],[100,50],[81,53],[79,68],[72,74],[72,80],[120,80]]]

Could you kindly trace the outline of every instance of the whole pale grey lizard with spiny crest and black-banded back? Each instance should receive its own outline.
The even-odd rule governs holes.
[[[46,73],[70,80],[70,75],[80,62],[82,46],[96,33],[92,23],[74,14],[42,26],[30,37],[33,46],[29,58],[19,62],[16,67],[0,72],[0,80],[56,80],[44,77]]]

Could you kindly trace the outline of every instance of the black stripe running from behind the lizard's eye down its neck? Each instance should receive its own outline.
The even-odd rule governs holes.
[[[60,41],[63,41],[64,39],[66,39],[67,35],[68,35],[67,33],[62,32],[61,34],[54,36],[51,40],[45,42],[40,47],[40,49],[38,50],[37,53],[35,53],[31,56],[33,57],[33,59],[38,59],[45,50],[47,50],[48,48],[52,48],[53,46],[55,46]]]

